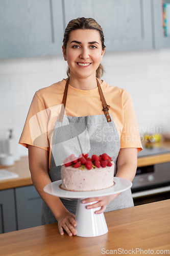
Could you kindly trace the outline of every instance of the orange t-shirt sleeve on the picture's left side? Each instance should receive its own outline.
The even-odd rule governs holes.
[[[43,102],[35,93],[30,105],[19,144],[28,148],[28,145],[37,146],[49,151],[47,138],[48,115]]]

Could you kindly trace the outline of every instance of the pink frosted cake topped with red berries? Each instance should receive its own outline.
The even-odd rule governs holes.
[[[71,191],[92,191],[113,186],[114,162],[107,154],[67,157],[61,167],[61,187]]]

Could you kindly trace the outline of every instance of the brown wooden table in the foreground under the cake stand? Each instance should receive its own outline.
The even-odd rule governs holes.
[[[109,231],[101,237],[61,236],[57,224],[0,234],[0,255],[99,256],[116,254],[114,250],[166,255],[164,250],[170,251],[170,200],[106,212],[105,218]]]

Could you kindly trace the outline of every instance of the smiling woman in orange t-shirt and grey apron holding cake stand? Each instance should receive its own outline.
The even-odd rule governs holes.
[[[32,181],[43,199],[42,224],[58,221],[60,234],[65,230],[72,236],[76,234],[77,200],[43,191],[46,184],[61,179],[63,159],[75,152],[89,156],[107,153],[117,165],[115,176],[132,181],[137,151],[142,147],[130,95],[100,80],[105,53],[100,25],[92,18],[71,20],[62,50],[68,78],[36,92],[19,143],[29,149]],[[130,189],[84,203],[94,201],[89,208],[101,207],[95,214],[133,206]]]

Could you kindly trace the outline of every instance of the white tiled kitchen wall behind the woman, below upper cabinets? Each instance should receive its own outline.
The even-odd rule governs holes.
[[[170,131],[170,49],[106,51],[102,62],[103,79],[132,95],[141,135]],[[66,68],[62,56],[0,60],[0,140],[11,128],[19,140],[35,91],[66,77]],[[21,145],[17,151],[28,154]]]

